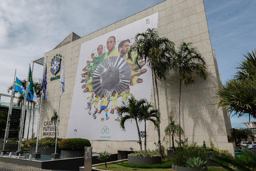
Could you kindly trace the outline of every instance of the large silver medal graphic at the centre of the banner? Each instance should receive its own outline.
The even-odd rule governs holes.
[[[94,94],[99,93],[102,97],[106,93],[111,97],[112,92],[116,93],[123,87],[127,88],[131,80],[131,69],[123,58],[110,56],[104,59],[95,69],[92,76],[92,89]]]

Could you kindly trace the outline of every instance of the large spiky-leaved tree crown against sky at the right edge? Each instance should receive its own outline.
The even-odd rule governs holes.
[[[252,54],[243,54],[245,59],[238,64],[234,78],[225,82],[217,92],[217,106],[227,108],[241,117],[248,113],[256,118],[256,49]],[[233,115],[233,116],[234,116]]]

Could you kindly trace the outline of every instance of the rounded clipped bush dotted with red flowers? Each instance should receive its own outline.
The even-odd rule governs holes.
[[[84,138],[67,138],[59,142],[61,150],[84,150],[84,147],[90,146],[90,141]]]

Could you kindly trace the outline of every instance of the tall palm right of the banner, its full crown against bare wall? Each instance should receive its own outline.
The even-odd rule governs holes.
[[[179,126],[180,125],[180,97],[181,97],[181,81],[187,87],[194,81],[195,74],[201,79],[206,80],[207,68],[204,57],[192,46],[192,43],[181,42],[177,50],[170,53],[172,62],[170,63],[172,70],[179,72]],[[179,146],[181,146],[181,137],[179,137]]]

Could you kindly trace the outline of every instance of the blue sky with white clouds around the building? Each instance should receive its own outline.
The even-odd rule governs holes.
[[[139,2],[139,3],[138,3]],[[32,59],[52,50],[71,32],[85,36],[162,1],[3,1],[0,0],[0,92],[17,77],[24,79]],[[255,48],[256,1],[205,0],[212,49],[222,82],[230,78],[242,53]],[[33,78],[42,76],[35,64]],[[8,102],[9,98],[2,97]],[[232,127],[243,126],[248,116],[231,118]]]

